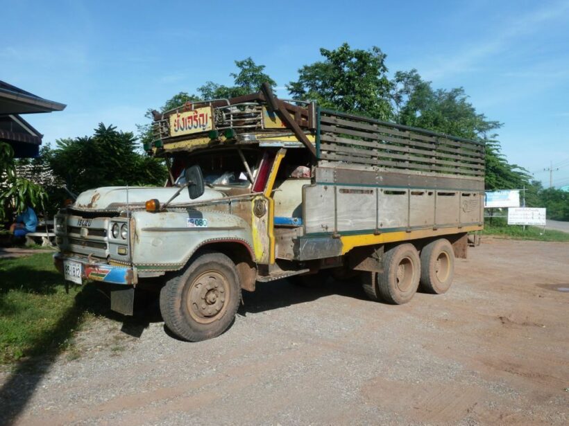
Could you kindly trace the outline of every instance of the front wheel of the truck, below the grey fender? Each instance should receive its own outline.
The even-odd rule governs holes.
[[[206,252],[162,287],[160,312],[175,335],[201,341],[229,328],[240,300],[235,263],[224,254]]]

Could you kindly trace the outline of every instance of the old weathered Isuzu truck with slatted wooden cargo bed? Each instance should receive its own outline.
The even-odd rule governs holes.
[[[444,293],[482,230],[477,141],[280,100],[268,85],[153,115],[144,148],[167,162],[167,185],[80,194],[56,215],[54,259],[68,281],[110,283],[124,314],[155,283],[183,339],[221,334],[241,290],[279,278],[349,277],[396,304],[420,285]]]

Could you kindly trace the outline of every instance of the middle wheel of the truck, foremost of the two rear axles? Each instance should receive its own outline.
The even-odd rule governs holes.
[[[412,244],[401,244],[389,249],[383,256],[382,272],[363,274],[367,296],[375,301],[402,305],[417,292],[421,260]]]

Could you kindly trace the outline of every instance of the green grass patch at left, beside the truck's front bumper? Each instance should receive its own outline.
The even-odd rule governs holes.
[[[67,294],[49,253],[0,259],[0,364],[60,353],[87,317],[109,305],[94,285]]]

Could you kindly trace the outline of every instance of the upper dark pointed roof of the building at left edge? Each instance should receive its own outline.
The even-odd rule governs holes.
[[[67,105],[47,100],[0,80],[0,115],[62,111]]]

